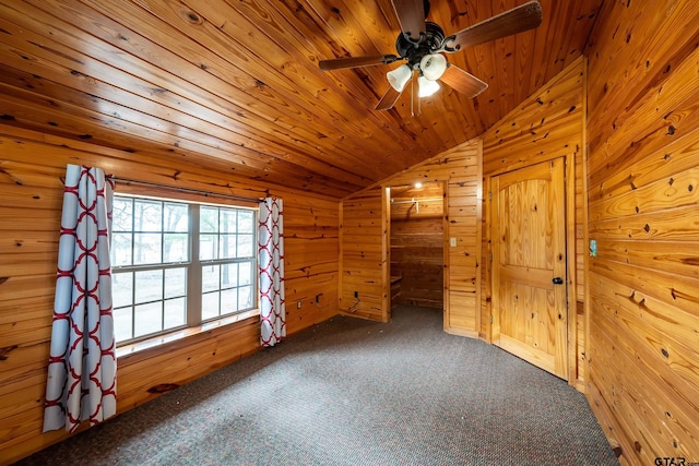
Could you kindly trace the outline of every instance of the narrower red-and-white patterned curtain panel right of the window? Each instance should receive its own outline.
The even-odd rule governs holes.
[[[260,265],[260,320],[262,346],[274,346],[286,336],[284,311],[284,226],[282,200],[260,202],[258,258]]]

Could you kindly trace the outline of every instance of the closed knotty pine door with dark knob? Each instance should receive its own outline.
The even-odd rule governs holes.
[[[565,160],[493,182],[493,342],[566,379]]]

